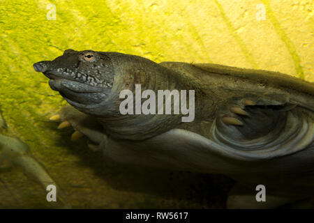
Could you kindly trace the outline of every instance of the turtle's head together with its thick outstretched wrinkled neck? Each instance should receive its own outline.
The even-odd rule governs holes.
[[[141,91],[137,91],[137,84],[142,91],[187,89],[173,70],[149,59],[118,52],[67,49],[52,61],[34,63],[33,68],[50,78],[52,90],[59,91],[70,105],[96,117],[116,137],[146,139],[181,123],[181,114],[160,115],[156,108],[149,114],[134,114],[139,103],[133,107],[133,95]],[[128,93],[123,95],[124,92]],[[134,98],[144,101],[141,96],[140,92]],[[122,102],[130,107],[127,114],[121,112]]]

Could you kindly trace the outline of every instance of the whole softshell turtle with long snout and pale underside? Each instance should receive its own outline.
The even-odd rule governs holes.
[[[51,119],[61,121],[59,128],[71,125],[73,140],[87,136],[89,148],[102,151],[108,163],[224,174],[237,181],[227,208],[297,207],[313,197],[311,82],[267,70],[156,63],[93,50],[67,49],[33,68],[68,102]],[[150,112],[133,112],[161,90],[170,92],[161,107],[149,103]],[[140,96],[133,107],[125,91]],[[176,93],[187,91],[193,94],[179,95],[179,102],[193,108],[190,121],[183,110],[174,112]],[[122,104],[131,112],[121,112]],[[266,197],[258,199],[257,188]]]

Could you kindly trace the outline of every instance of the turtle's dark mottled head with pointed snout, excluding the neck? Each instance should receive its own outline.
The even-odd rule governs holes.
[[[50,78],[49,85],[74,107],[97,107],[111,92],[114,71],[102,52],[67,49],[53,61],[33,64],[37,72]]]

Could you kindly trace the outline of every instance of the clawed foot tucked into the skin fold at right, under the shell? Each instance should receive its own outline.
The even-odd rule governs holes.
[[[290,104],[285,95],[244,95],[232,98],[220,110],[217,127],[232,139],[256,139],[283,128]]]

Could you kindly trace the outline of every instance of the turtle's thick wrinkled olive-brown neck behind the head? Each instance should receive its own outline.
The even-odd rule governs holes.
[[[135,107],[135,84],[141,85],[142,92],[146,89],[154,91],[156,97],[158,90],[189,90],[193,89],[192,86],[186,86],[179,78],[175,78],[177,75],[172,70],[140,56],[119,53],[107,53],[107,56],[114,68],[114,84],[110,95],[96,107],[77,109],[96,115],[107,133],[120,139],[148,139],[181,125],[181,114],[122,115],[119,105],[124,98],[120,99],[119,94],[126,89],[132,91]]]

